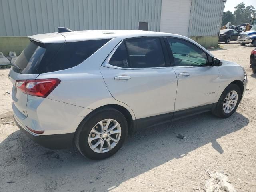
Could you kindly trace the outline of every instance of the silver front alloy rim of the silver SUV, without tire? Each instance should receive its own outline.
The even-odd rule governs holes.
[[[236,91],[230,91],[223,102],[223,110],[224,113],[230,113],[236,107],[236,103],[238,101],[238,94]]]

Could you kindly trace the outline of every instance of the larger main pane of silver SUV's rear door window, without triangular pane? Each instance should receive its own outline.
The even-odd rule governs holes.
[[[126,47],[131,68],[166,66],[159,38],[126,40]]]

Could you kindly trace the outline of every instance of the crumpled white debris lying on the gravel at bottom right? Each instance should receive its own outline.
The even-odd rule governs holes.
[[[210,179],[206,181],[205,190],[206,192],[236,192],[235,188],[230,184],[228,177],[221,172],[210,172],[205,170]]]

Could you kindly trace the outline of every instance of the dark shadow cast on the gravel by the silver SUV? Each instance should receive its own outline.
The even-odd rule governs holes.
[[[184,158],[209,143],[223,154],[217,139],[248,123],[237,112],[228,119],[210,113],[196,115],[127,136],[114,156],[100,161],[84,158],[74,149],[48,150],[18,130],[0,143],[0,191],[34,191],[35,187],[36,191],[74,191],[74,186],[79,191],[111,191],[130,178]],[[176,138],[177,134],[186,139]]]

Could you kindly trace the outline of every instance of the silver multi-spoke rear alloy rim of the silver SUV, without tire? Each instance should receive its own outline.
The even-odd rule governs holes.
[[[116,120],[104,119],[90,131],[89,146],[96,153],[108,152],[118,144],[121,132],[121,126]]]

